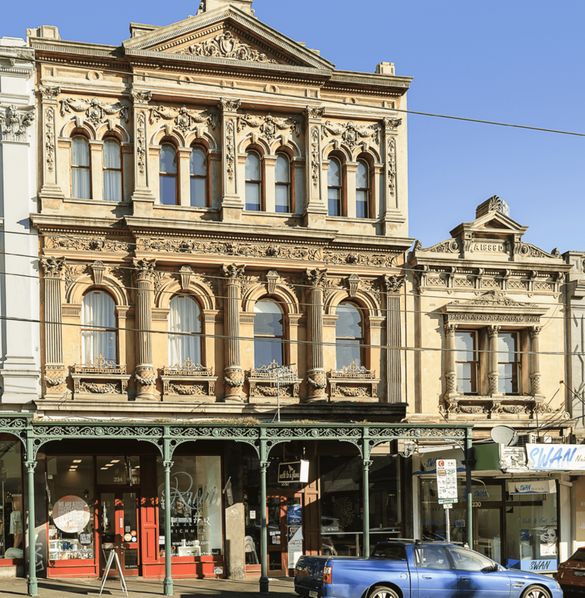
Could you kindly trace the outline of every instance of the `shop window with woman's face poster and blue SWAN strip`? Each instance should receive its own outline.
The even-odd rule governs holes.
[[[526,481],[534,488],[538,480],[514,480],[508,487],[506,566],[538,573],[556,571],[559,564],[556,487],[545,480],[541,485],[555,492],[516,493],[524,490],[522,482]]]

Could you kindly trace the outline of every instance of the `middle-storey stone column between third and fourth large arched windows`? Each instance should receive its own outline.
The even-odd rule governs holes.
[[[307,401],[325,399],[327,377],[323,369],[323,286],[327,270],[307,269],[308,289]]]

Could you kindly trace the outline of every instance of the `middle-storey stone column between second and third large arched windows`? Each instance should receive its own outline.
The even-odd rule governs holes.
[[[223,331],[225,363],[223,367],[224,395],[226,401],[243,401],[244,373],[240,357],[240,285],[244,266],[223,266]]]

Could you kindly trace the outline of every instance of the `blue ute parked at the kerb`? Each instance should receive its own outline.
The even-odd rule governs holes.
[[[584,569],[585,570],[585,569]],[[301,556],[308,598],[562,598],[555,579],[506,569],[452,542],[378,542],[367,558]]]

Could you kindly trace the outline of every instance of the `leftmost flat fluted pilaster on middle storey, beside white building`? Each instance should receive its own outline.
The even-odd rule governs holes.
[[[67,370],[63,364],[63,319],[61,311],[61,273],[65,261],[41,258],[45,286],[45,394],[67,392]]]

